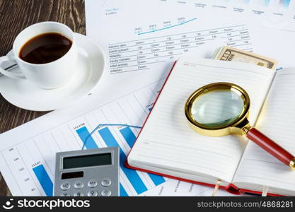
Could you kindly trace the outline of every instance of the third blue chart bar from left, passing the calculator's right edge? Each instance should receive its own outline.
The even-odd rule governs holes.
[[[110,129],[108,129],[108,127],[98,130],[98,133],[103,138],[103,141],[105,141],[107,146],[119,146],[114,136],[112,136],[112,133],[110,132]],[[147,190],[146,185],[144,184],[144,182],[142,182],[136,170],[129,170],[127,169],[127,167],[125,167],[124,163],[126,157],[127,156],[120,148],[120,167],[129,179],[129,182],[132,184],[137,194],[141,194]]]

